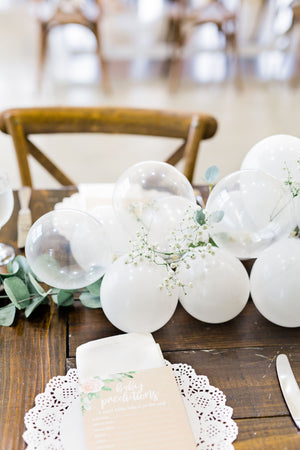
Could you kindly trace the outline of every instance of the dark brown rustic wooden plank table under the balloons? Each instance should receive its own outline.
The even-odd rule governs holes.
[[[74,189],[34,191],[33,219],[53,208]],[[0,240],[15,245],[15,211],[0,232]],[[37,394],[55,375],[75,366],[76,347],[119,334],[102,310],[75,306],[41,306],[29,319],[19,312],[13,326],[0,327],[0,448],[25,448],[24,415]],[[280,392],[275,358],[286,353],[300,382],[300,330],[282,328],[264,319],[249,300],[235,319],[209,325],[189,316],[180,306],[170,322],[154,333],[166,359],[194,367],[227,396],[239,427],[236,449],[299,449],[295,427]]]

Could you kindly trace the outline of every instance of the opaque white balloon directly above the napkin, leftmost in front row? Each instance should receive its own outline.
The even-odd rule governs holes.
[[[126,264],[127,260],[121,256],[104,275],[100,290],[104,314],[122,331],[152,333],[172,317],[178,287],[171,289],[171,295],[160,288],[167,276],[165,266],[149,261]]]

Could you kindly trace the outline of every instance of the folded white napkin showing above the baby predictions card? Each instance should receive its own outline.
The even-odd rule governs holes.
[[[76,350],[79,380],[165,365],[160,346],[151,334],[128,333],[80,345]]]

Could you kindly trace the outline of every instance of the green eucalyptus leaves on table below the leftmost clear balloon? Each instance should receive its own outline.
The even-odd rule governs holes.
[[[4,294],[0,299],[10,303],[0,308],[0,325],[13,324],[16,311],[24,310],[28,318],[38,306],[49,304],[52,301],[57,306],[70,306],[78,297],[87,308],[101,308],[100,286],[102,278],[83,289],[65,290],[40,284],[40,280],[33,274],[27,259],[18,255],[8,264],[8,273],[0,274],[0,284],[3,285]]]

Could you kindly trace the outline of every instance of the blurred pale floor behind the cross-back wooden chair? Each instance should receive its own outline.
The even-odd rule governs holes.
[[[77,43],[66,33],[52,37],[44,86],[36,92],[37,29],[27,3],[14,0],[13,7],[0,5],[0,108],[35,105],[120,105],[179,110],[199,110],[213,114],[219,122],[217,135],[203,142],[198,158],[195,182],[201,182],[206,168],[216,164],[224,176],[238,170],[247,151],[260,139],[272,134],[300,136],[300,90],[291,89],[284,80],[286,64],[281,56],[262,61],[265,72],[277,71],[277,80],[262,80],[245,74],[244,87],[238,90],[232,80],[207,82],[216,68],[224,70],[221,54],[202,54],[187,66],[178,93],[171,95],[163,65],[149,62],[141,42],[126,54],[123,24],[115,47],[106,41],[113,92],[103,94],[98,79],[97,62],[89,36],[80,35]],[[7,4],[9,2],[7,1]],[[4,6],[3,6],[4,5]],[[122,36],[122,33],[124,35]],[[74,36],[74,34],[72,34]],[[132,38],[132,36],[131,36]],[[71,43],[71,44],[70,44]],[[119,44],[119,45],[118,45]],[[151,45],[147,48],[152,48]],[[123,53],[118,53],[122,50]],[[278,59],[279,58],[279,59]],[[287,61],[287,60],[286,60]],[[279,65],[281,64],[281,66]],[[247,68],[246,60],[243,61]],[[256,68],[253,61],[250,67]],[[192,71],[193,68],[193,71]],[[201,69],[202,72],[197,75]],[[193,75],[191,75],[193,74]],[[249,75],[250,74],[250,75]],[[282,75],[282,76],[281,76]],[[199,80],[202,77],[202,81]],[[198,78],[197,78],[198,77]],[[206,77],[206,81],[205,81]],[[146,159],[163,159],[172,142],[118,136],[51,136],[40,139],[49,154],[65,168],[76,182],[114,181],[131,164]],[[83,152],[84,148],[84,152]],[[8,170],[12,185],[20,184],[14,151],[9,137],[0,135],[1,167]],[[51,177],[34,166],[36,187],[55,186]]]

